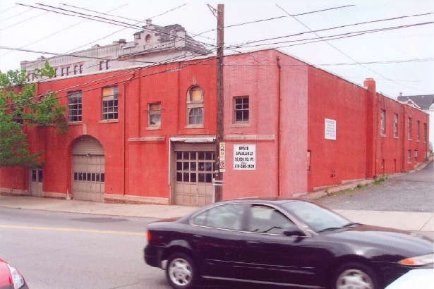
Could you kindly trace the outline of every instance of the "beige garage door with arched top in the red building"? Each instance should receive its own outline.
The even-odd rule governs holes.
[[[72,149],[74,199],[104,202],[104,149],[95,137],[85,135]]]

